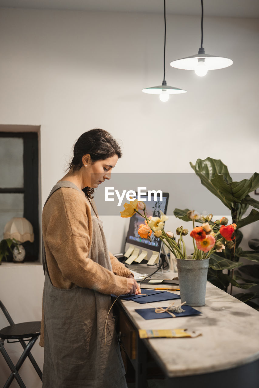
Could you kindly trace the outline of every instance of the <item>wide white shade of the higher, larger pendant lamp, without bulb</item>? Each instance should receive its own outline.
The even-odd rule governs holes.
[[[223,69],[233,64],[232,59],[217,57],[210,54],[195,54],[191,57],[177,59],[176,61],[170,62],[170,66],[177,69],[183,70],[195,70],[198,65],[198,59],[205,59],[205,64],[208,70]]]

